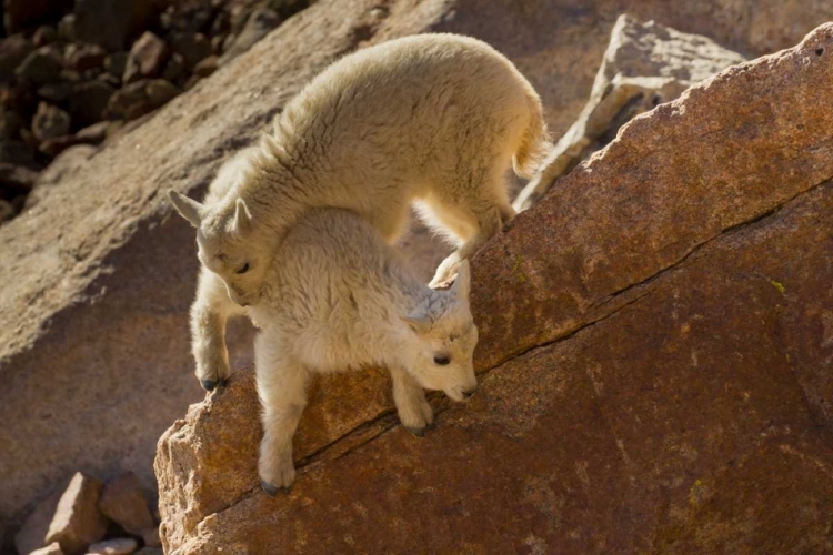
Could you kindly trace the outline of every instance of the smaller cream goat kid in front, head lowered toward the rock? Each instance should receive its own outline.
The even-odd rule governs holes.
[[[469,262],[448,291],[428,287],[362,218],[308,212],[290,229],[247,309],[263,406],[259,472],[274,495],[295,477],[292,436],[314,373],[387,367],[399,418],[415,435],[433,422],[422,389],[454,401],[478,386],[478,329],[469,307]]]

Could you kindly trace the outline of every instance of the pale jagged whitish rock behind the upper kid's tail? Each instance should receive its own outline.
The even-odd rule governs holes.
[[[559,176],[608,144],[634,117],[744,60],[705,37],[621,16],[611,31],[590,100],[535,179],[518,195],[514,209],[532,206]]]

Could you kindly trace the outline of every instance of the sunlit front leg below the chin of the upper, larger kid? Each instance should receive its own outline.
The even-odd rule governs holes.
[[[225,322],[229,316],[242,313],[229,299],[222,280],[201,269],[197,299],[191,305],[191,349],[197,361],[197,379],[207,391],[222,386],[229,379]]]

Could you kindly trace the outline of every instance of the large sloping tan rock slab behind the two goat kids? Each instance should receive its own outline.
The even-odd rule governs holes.
[[[3,224],[0,519],[20,523],[49,484],[79,467],[102,478],[132,470],[152,487],[157,438],[201,398],[187,324],[193,233],[172,215],[168,186],[198,193],[335,57],[429,30],[472,34],[506,52],[540,89],[561,133],[584,103],[624,9],[752,53],[793,44],[833,16],[823,0],[598,0],[581,9],[544,0],[320,0],[143,125],[109,140]],[[248,360],[245,327],[232,330],[229,344],[235,366]]]

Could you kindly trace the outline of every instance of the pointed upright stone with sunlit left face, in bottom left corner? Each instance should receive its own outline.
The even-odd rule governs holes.
[[[101,482],[77,472],[58,502],[46,543],[58,542],[67,555],[76,555],[104,537],[107,519],[98,509]]]

